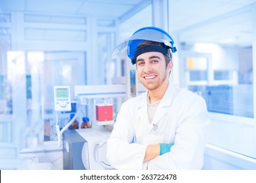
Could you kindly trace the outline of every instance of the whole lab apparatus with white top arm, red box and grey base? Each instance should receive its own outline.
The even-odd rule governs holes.
[[[74,99],[79,109],[61,130],[56,116],[58,142],[60,146],[63,144],[64,169],[114,169],[106,158],[106,144],[111,130],[104,126],[114,124],[113,105],[109,98],[126,97],[125,91],[124,84],[75,86]],[[96,103],[95,99],[100,98],[106,99],[104,103]],[[82,107],[95,109],[90,117],[93,124],[89,124],[88,117],[83,117],[81,129],[65,131],[75,121]]]

